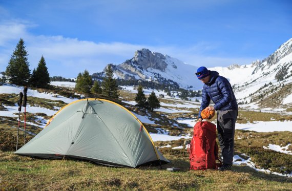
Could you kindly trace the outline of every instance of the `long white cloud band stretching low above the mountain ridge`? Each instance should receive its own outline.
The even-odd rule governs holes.
[[[20,37],[25,41],[30,69],[36,68],[41,55],[44,55],[51,76],[76,77],[79,72],[83,72],[85,69],[89,70],[90,73],[100,72],[108,63],[119,64],[132,58],[134,52],[141,48],[168,54],[195,66],[214,67],[228,66],[232,63],[246,64],[256,59],[204,56],[206,51],[218,48],[218,45],[206,42],[187,48],[133,45],[121,42],[96,43],[64,36],[34,35],[29,32],[32,27],[37,26],[19,20],[0,24],[0,55],[2,56],[0,71],[6,69]]]

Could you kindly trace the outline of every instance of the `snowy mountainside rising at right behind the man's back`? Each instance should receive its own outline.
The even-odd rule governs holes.
[[[292,106],[292,38],[262,61],[250,65],[215,67],[234,87],[238,102],[259,108]],[[249,104],[249,105],[248,105]]]

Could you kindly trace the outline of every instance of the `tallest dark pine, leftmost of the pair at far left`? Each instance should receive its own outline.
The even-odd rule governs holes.
[[[18,86],[28,85],[30,70],[27,56],[28,53],[25,50],[24,40],[20,38],[6,67],[5,73],[10,83]]]

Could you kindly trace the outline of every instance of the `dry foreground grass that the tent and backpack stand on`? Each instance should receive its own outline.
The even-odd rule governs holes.
[[[138,169],[96,165],[86,161],[43,160],[0,152],[3,190],[291,190],[292,180],[257,173],[246,166],[231,172],[189,171],[186,155],[165,152],[171,164]],[[180,172],[165,171],[180,167]]]

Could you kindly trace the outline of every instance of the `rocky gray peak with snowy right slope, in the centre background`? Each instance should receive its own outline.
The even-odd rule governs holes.
[[[176,82],[183,89],[201,89],[202,83],[196,78],[198,67],[163,55],[141,49],[135,52],[133,58],[120,65],[112,65],[115,77],[119,79],[136,79],[163,82]]]

